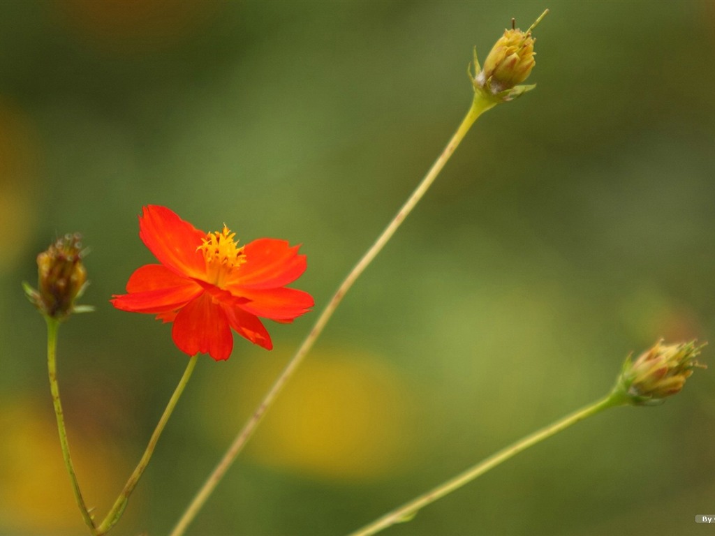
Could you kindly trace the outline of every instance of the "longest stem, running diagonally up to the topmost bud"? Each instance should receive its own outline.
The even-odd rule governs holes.
[[[283,369],[280,376],[277,377],[272,387],[266,393],[260,405],[258,405],[258,407],[256,408],[252,417],[250,417],[243,429],[236,436],[235,440],[225,453],[222,460],[215,467],[211,475],[209,475],[206,482],[204,482],[204,485],[194,497],[191,504],[184,512],[184,515],[182,515],[181,519],[174,527],[174,530],[171,532],[170,536],[180,536],[184,534],[184,532],[187,530],[187,527],[189,526],[189,523],[192,522],[194,517],[196,517],[199,510],[201,510],[202,506],[204,505],[204,502],[206,502],[209,495],[211,495],[217,484],[227,472],[228,468],[232,465],[232,463],[240,454],[245,444],[253,435],[253,432],[255,431],[256,427],[260,424],[263,416],[265,415],[267,410],[270,409],[275,398],[281,392],[288,379],[290,379],[292,374],[295,372],[297,367],[305,358],[306,354],[310,351],[312,345],[315,344],[315,341],[322,333],[322,330],[325,328],[325,324],[327,324],[328,320],[330,320],[330,317],[332,317],[333,312],[335,312],[335,309],[337,309],[337,306],[342,301],[342,298],[345,297],[347,291],[350,289],[350,287],[352,287],[352,284],[355,283],[358,277],[360,277],[360,274],[365,271],[365,268],[368,267],[370,262],[373,262],[373,259],[377,257],[378,253],[380,253],[383,247],[385,247],[385,244],[387,244],[390,238],[393,237],[395,231],[398,230],[400,224],[402,224],[405,218],[408,217],[408,214],[410,214],[410,212],[412,212],[412,210],[415,208],[415,205],[417,205],[420,199],[422,199],[422,197],[425,195],[425,192],[427,192],[427,190],[437,178],[438,174],[440,174],[442,168],[448,162],[453,152],[455,152],[455,149],[457,149],[460,142],[462,142],[465,135],[467,134],[471,126],[474,124],[474,121],[476,121],[477,118],[481,114],[483,114],[483,112],[492,108],[496,104],[497,103],[495,101],[485,99],[480,94],[475,94],[469,111],[462,120],[462,123],[453,135],[452,139],[450,139],[449,143],[443,150],[442,154],[440,154],[438,159],[435,161],[435,163],[432,165],[425,177],[422,179],[422,182],[418,184],[418,187],[410,195],[405,204],[403,204],[403,207],[400,208],[400,210],[395,215],[390,224],[388,224],[388,227],[385,227],[385,230],[382,232],[382,234],[380,234],[375,243],[370,247],[370,249],[368,249],[367,252],[365,252],[360,261],[358,261],[358,264],[355,264],[355,267],[352,268],[350,273],[347,274],[345,280],[340,284],[340,287],[337,288],[337,291],[335,291],[335,294],[333,294],[332,298],[330,299],[330,302],[328,302],[327,304],[327,307],[323,309],[322,313],[320,314],[320,317],[318,317],[317,321],[315,322],[315,325],[310,330],[310,333],[307,335],[307,337],[297,349],[295,354],[293,354],[293,357],[290,359],[290,362],[288,362],[285,369]]]

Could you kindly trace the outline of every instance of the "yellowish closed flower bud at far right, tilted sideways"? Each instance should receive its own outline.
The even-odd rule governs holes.
[[[635,362],[630,356],[626,359],[616,389],[633,405],[661,404],[680,392],[694,368],[706,368],[695,359],[703,346],[694,341],[663,344],[660,340]]]

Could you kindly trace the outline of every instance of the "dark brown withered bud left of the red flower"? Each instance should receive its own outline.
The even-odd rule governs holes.
[[[37,256],[39,290],[24,284],[30,301],[47,317],[62,319],[78,310],[74,300],[87,286],[80,238],[79,234],[66,234]]]

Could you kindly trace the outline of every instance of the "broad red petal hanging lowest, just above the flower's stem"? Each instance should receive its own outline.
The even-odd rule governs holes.
[[[182,352],[209,354],[217,361],[228,359],[233,349],[233,335],[224,309],[206,293],[178,312],[172,338]]]

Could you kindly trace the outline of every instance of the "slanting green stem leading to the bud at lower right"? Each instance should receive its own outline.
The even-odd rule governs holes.
[[[405,505],[396,508],[392,512],[388,512],[387,514],[383,515],[383,517],[380,517],[378,520],[373,521],[369,525],[365,525],[365,527],[363,527],[362,529],[356,532],[352,532],[350,536],[370,536],[373,534],[377,534],[378,532],[386,529],[387,527],[395,525],[395,523],[409,521],[417,514],[417,512],[421,508],[432,504],[436,500],[441,499],[445,495],[448,495],[455,490],[458,490],[463,485],[467,484],[468,482],[471,482],[476,477],[480,477],[493,467],[496,467],[497,465],[506,462],[506,460],[509,460],[511,457],[518,455],[519,452],[522,452],[523,450],[526,450],[529,447],[536,445],[538,442],[545,440],[547,437],[551,437],[552,435],[556,435],[562,430],[566,430],[566,428],[570,427],[571,425],[575,425],[576,422],[586,419],[586,417],[596,415],[596,413],[599,413],[608,407],[623,405],[625,403],[626,400],[620,393],[615,391],[611,392],[611,394],[608,394],[607,397],[603,397],[602,399],[598,400],[598,402],[594,402],[591,405],[583,407],[581,408],[581,410],[573,412],[571,413],[571,415],[567,415],[561,420],[558,420],[553,424],[542,428],[541,430],[537,430],[531,435],[523,437],[516,443],[513,443],[512,445],[500,450],[499,452],[496,452],[485,460],[479,462],[477,465],[470,467],[470,469],[466,470],[460,475],[457,475],[452,479],[443,482],[443,484],[438,485],[433,490],[430,490],[423,495],[416,497]]]

